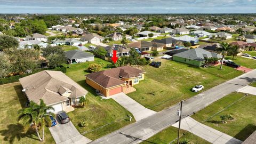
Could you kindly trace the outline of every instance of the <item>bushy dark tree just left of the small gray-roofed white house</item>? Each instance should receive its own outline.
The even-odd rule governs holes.
[[[65,53],[60,46],[47,46],[43,49],[43,57],[49,61],[49,66],[51,68],[59,67],[65,62]]]

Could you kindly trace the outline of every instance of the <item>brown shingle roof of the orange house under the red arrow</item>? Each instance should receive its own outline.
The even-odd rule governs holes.
[[[120,78],[138,77],[140,74],[145,73],[142,70],[130,66],[123,66],[108,70],[99,71],[86,75],[86,78],[91,79],[95,83],[108,89],[109,87],[125,84]]]

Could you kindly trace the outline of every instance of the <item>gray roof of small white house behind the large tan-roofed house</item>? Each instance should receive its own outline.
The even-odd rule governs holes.
[[[87,57],[94,57],[93,54],[80,51],[80,50],[71,50],[65,52],[66,58],[68,59],[81,59],[81,58],[87,58]]]

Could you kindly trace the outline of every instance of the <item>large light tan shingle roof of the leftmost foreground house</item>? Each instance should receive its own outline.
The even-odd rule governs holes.
[[[36,103],[43,99],[46,105],[68,100],[63,97],[63,91],[71,91],[70,97],[76,98],[87,94],[87,91],[61,71],[44,70],[19,79],[30,101]]]

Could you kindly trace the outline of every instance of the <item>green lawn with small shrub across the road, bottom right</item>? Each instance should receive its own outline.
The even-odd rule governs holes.
[[[255,95],[245,96],[243,93],[231,93],[191,117],[213,129],[244,141],[256,130],[255,103]],[[221,115],[231,115],[234,119],[228,123],[221,123]]]

